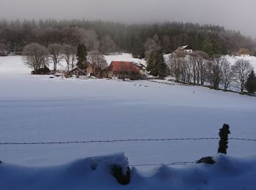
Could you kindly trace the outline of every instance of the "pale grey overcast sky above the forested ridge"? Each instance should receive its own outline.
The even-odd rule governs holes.
[[[214,23],[256,37],[255,0],[0,0],[0,18]]]

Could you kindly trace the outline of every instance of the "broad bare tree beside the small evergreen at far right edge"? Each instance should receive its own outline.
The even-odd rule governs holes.
[[[241,94],[243,94],[246,79],[249,76],[249,73],[253,69],[252,65],[249,63],[249,61],[241,58],[241,59],[238,59],[238,61],[236,61],[236,63],[232,66],[232,69],[234,72],[235,82],[240,87]]]

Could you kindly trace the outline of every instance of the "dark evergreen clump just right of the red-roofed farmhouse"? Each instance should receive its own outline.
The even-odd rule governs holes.
[[[162,51],[152,51],[148,58],[146,67],[150,75],[154,77],[165,77],[167,66]]]

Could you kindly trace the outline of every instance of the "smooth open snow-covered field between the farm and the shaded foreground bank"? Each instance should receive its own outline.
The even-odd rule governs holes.
[[[0,57],[0,142],[218,137],[223,123],[230,124],[230,137],[255,139],[255,97],[144,80],[50,79],[29,75],[30,71],[19,56]],[[131,165],[170,164],[215,155],[217,146],[218,140],[0,145],[0,160],[48,166],[124,152]],[[230,140],[227,152],[236,157],[252,156],[255,148],[252,141]],[[192,169],[188,171],[198,175],[210,170],[206,166],[189,167]],[[6,170],[9,168],[12,166],[7,164]],[[20,171],[20,167],[13,168]],[[186,168],[176,171],[161,167],[157,171],[163,173],[156,178],[164,178],[166,172],[169,177],[161,180],[167,180]],[[5,169],[0,164],[0,174],[1,170]]]

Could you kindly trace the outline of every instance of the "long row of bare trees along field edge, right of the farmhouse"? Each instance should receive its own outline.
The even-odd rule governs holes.
[[[216,90],[227,91],[239,88],[244,94],[246,89],[249,93],[255,92],[255,74],[248,60],[238,59],[235,64],[222,55],[210,58],[203,51],[184,53],[177,51],[168,56],[167,69],[165,72],[175,77],[176,81],[193,85],[208,85]],[[249,77],[251,75],[251,77]]]

